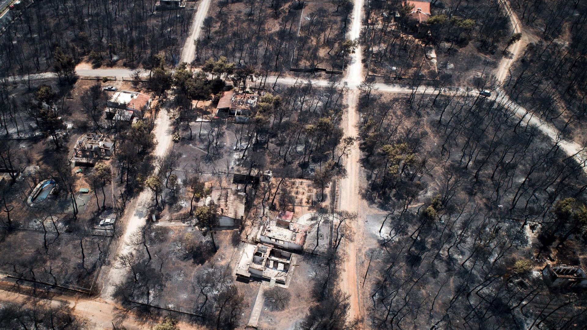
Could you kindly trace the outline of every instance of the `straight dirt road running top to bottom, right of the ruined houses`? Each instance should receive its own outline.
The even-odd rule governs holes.
[[[353,9],[353,21],[350,28],[349,39],[358,39],[360,36],[362,18],[363,18],[363,0],[355,0],[355,8]],[[345,135],[357,137],[359,130],[357,129],[358,114],[357,114],[357,102],[359,100],[359,90],[357,86],[363,80],[363,65],[362,65],[362,50],[359,47],[353,54],[353,59],[349,67],[347,68],[347,74],[345,82],[350,87],[350,92],[347,98],[348,112],[345,120],[343,120],[343,127],[345,127]],[[359,144],[355,143],[350,150],[349,156],[346,160],[346,171],[347,176],[340,180],[340,197],[339,197],[339,209],[347,210],[352,212],[358,211],[357,201],[361,200],[359,194]],[[357,272],[357,242],[361,242],[362,239],[362,220],[359,218],[356,223],[353,223],[353,230],[355,231],[355,240],[346,244],[345,250],[347,252],[345,265],[343,266],[342,278],[340,281],[340,287],[343,291],[350,295],[350,310],[349,318],[359,318],[363,320],[362,305],[361,305],[361,294],[359,291],[359,281]],[[363,328],[363,325],[360,326]]]

